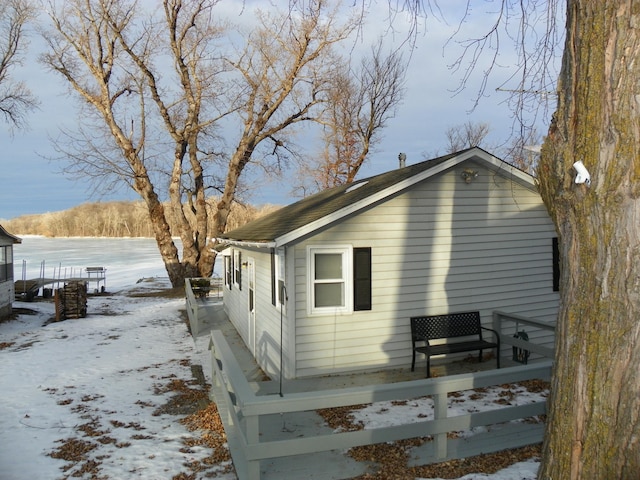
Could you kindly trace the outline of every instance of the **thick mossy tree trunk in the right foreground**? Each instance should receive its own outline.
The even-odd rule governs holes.
[[[640,475],[640,2],[569,0],[540,190],[561,244],[540,479]],[[582,160],[592,183],[575,184]]]

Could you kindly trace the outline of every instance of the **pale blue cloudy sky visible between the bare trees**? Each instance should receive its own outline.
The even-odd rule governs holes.
[[[150,0],[143,0],[150,1]],[[393,28],[389,23],[389,4],[396,2],[365,2],[369,16],[361,38],[354,39],[354,51],[368,50],[379,35],[385,35],[386,44],[399,46],[407,38],[407,16],[397,15]],[[402,2],[398,2],[402,3]],[[425,2],[426,3],[426,2]],[[489,59],[481,60],[466,83],[466,88],[455,94],[462,81],[464,69],[455,71],[451,65],[460,56],[459,41],[451,36],[459,26],[466,7],[466,0],[440,2],[442,10],[438,20],[428,12],[426,21],[419,25],[420,33],[415,44],[405,45],[404,54],[409,58],[406,94],[396,115],[387,123],[382,138],[370,154],[359,173],[360,178],[396,168],[398,154],[407,155],[407,164],[446,153],[447,128],[466,122],[488,123],[491,131],[487,146],[498,146],[508,141],[513,123],[513,112],[508,105],[510,94],[496,88],[517,88],[517,57],[509,42],[503,42],[496,59],[484,95],[474,108],[483,72]],[[464,40],[486,31],[492,13],[497,7],[493,2],[473,2],[475,10],[462,25],[457,40]],[[250,22],[251,11],[256,7],[268,7],[265,0],[233,2],[222,0],[216,8],[220,14],[237,22]],[[503,35],[504,39],[504,35]],[[41,102],[40,108],[29,115],[29,128],[11,133],[6,124],[0,124],[2,145],[2,173],[0,174],[0,220],[20,215],[65,210],[88,201],[137,200],[136,194],[126,187],[105,196],[97,196],[86,180],[71,179],[61,173],[64,161],[51,160],[55,152],[52,139],[60,133],[60,127],[71,128],[79,119],[76,100],[68,95],[67,86],[52,73],[46,72],[37,62],[43,43],[33,34],[24,64],[16,70],[19,78],[32,90]],[[509,80],[516,74],[516,79]],[[537,125],[544,134],[550,113],[539,115]],[[81,119],[80,119],[81,121]],[[313,140],[311,140],[312,142]],[[304,144],[302,139],[298,143]],[[279,181],[260,182],[247,199],[253,204],[288,204],[295,200],[290,194],[291,185],[287,172]]]

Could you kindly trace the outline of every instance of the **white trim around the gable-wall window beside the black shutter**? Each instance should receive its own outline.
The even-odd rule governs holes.
[[[344,280],[344,305],[339,307],[314,307],[315,304],[315,262],[316,254],[342,254],[342,274]],[[307,313],[309,315],[333,315],[353,313],[353,248],[351,245],[309,245],[307,246]]]

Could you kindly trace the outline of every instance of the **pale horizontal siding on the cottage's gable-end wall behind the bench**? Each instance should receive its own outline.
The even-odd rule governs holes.
[[[555,321],[551,238],[537,192],[460,165],[295,245],[296,376],[410,364],[409,317],[493,310]],[[368,311],[309,315],[308,248],[371,247]],[[535,339],[550,341],[550,338]],[[550,345],[551,346],[551,345]],[[503,354],[506,354],[503,353]]]

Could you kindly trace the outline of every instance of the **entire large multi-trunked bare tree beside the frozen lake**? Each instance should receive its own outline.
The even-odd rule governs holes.
[[[215,3],[164,0],[156,18],[133,1],[69,0],[52,8],[46,35],[43,60],[83,100],[89,127],[58,143],[68,171],[102,188],[124,181],[141,196],[174,286],[211,274],[211,242],[243,173],[286,157],[291,127],[326,99],[331,46],[356,27],[324,2],[294,5],[262,15],[232,57],[218,43]],[[236,138],[231,150],[216,135],[221,125]],[[213,214],[209,191],[219,194]]]

